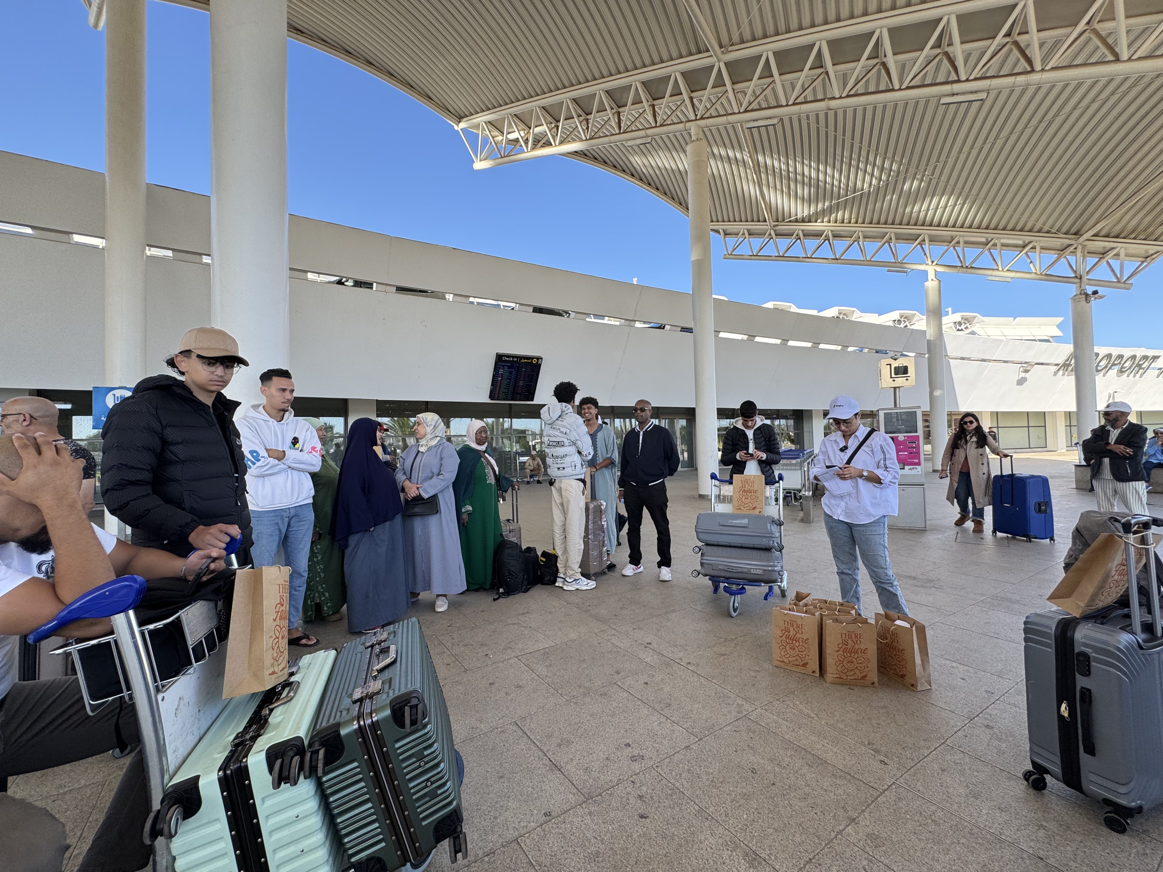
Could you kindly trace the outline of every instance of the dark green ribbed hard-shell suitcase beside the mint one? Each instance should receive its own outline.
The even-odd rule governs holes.
[[[444,841],[466,856],[452,724],[414,617],[343,646],[308,760],[355,872],[420,867]]]

